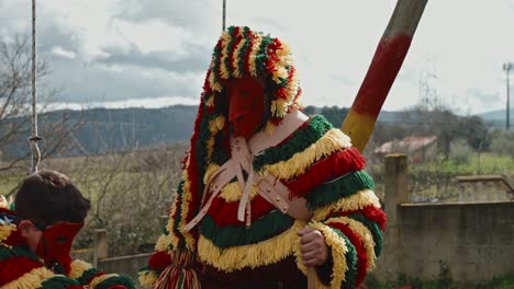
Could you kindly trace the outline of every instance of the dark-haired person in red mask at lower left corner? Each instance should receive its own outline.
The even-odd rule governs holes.
[[[0,288],[135,288],[124,276],[71,259],[71,243],[83,226],[89,200],[67,176],[45,170],[27,176],[14,210],[0,197]]]

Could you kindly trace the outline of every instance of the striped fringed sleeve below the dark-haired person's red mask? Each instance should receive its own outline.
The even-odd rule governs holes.
[[[80,286],[87,286],[91,289],[135,289],[136,286],[132,279],[118,274],[105,274],[91,264],[81,259],[71,263],[69,278],[77,281]]]

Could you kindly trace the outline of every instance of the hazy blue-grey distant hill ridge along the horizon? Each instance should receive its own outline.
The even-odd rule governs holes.
[[[90,108],[85,111],[55,111],[40,116],[40,131],[48,139],[49,124],[60,122],[63,116],[68,123],[83,122],[83,125],[69,137],[72,150],[57,151],[56,155],[101,154],[143,147],[156,147],[186,142],[192,134],[198,106],[175,105],[163,108]],[[340,127],[348,108],[306,107],[308,114],[323,114],[335,127]],[[402,123],[409,112],[382,111],[379,122]],[[512,112],[514,114],[514,111]],[[495,111],[478,115],[494,126],[504,127],[504,112]],[[21,122],[12,119],[11,122]],[[511,123],[513,126],[514,124]],[[26,124],[25,129],[29,129]],[[27,132],[26,132],[27,134]],[[26,135],[16,136],[11,146],[2,148],[4,155],[25,155]],[[47,134],[47,135],[44,135]],[[0,137],[2,128],[0,127]],[[22,144],[22,146],[21,146]],[[25,146],[26,144],[26,146]]]

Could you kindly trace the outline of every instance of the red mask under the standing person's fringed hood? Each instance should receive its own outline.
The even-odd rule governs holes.
[[[259,80],[242,78],[227,83],[228,122],[235,137],[249,139],[259,129],[265,109],[265,90]]]

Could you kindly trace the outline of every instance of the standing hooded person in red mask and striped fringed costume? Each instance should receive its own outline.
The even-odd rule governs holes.
[[[206,74],[182,180],[156,252],[154,288],[355,288],[386,216],[350,140],[305,116],[289,47],[230,27]]]

